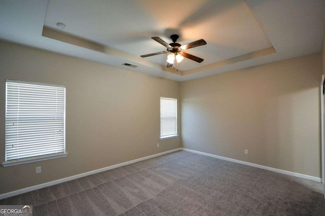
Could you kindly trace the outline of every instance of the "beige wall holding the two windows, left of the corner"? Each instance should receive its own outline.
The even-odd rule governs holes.
[[[0,167],[0,194],[181,147],[180,137],[159,140],[159,97],[180,99],[179,82],[6,42],[0,47],[0,162],[6,79],[66,85],[68,152],[65,158]]]

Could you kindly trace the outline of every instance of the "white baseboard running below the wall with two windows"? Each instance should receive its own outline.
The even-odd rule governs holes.
[[[182,150],[182,148],[177,148],[177,149],[173,149],[173,150],[169,150],[169,151],[165,151],[165,152],[160,152],[160,153],[157,153],[157,154],[149,155],[149,156],[138,158],[138,159],[135,159],[135,160],[129,160],[129,161],[119,163],[119,164],[115,164],[115,165],[112,165],[112,166],[107,166],[107,167],[104,167],[104,168],[84,172],[82,174],[78,174],[78,175],[75,175],[75,176],[71,176],[71,177],[67,177],[67,178],[63,178],[63,179],[58,179],[58,180],[54,180],[52,182],[47,182],[47,183],[43,183],[43,184],[40,184],[40,185],[35,185],[35,186],[28,187],[28,188],[23,188],[23,189],[19,189],[19,190],[16,190],[16,191],[0,194],[0,199],[5,199],[5,198],[8,198],[8,197],[16,196],[16,195],[19,195],[19,194],[23,194],[23,193],[27,193],[27,192],[30,192],[30,191],[38,190],[38,189],[41,189],[41,188],[46,188],[46,187],[49,187],[49,186],[52,186],[52,185],[57,185],[57,184],[60,184],[60,183],[63,183],[63,182],[68,182],[68,181],[71,181],[71,180],[79,179],[79,178],[82,178],[82,177],[85,177],[85,176],[90,176],[92,174],[97,174],[97,173],[102,172],[102,171],[106,171],[106,170],[109,170],[109,169],[114,169],[114,168],[117,168],[117,167],[120,167],[120,166],[125,166],[125,165],[128,165],[128,164],[136,163],[136,162],[139,162],[139,161],[142,161],[142,160],[147,160],[147,159],[150,159],[150,158],[153,158],[153,157],[158,157],[160,155],[176,152],[176,151],[179,151],[179,150]]]

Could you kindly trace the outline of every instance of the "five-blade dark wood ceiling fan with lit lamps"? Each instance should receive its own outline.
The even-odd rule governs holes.
[[[173,40],[173,42],[171,44],[168,44],[165,40],[161,39],[160,37],[151,37],[151,38],[154,39],[155,41],[157,41],[159,44],[165,46],[167,48],[167,51],[142,55],[141,56],[142,58],[149,57],[149,56],[155,56],[155,55],[159,55],[159,54],[170,53],[167,56],[167,62],[168,62],[167,67],[172,67],[175,60],[177,63],[181,62],[184,57],[188,58],[190,60],[199,62],[199,63],[203,62],[203,60],[204,60],[204,59],[201,59],[199,57],[196,57],[196,56],[193,56],[191,54],[184,52],[184,50],[188,50],[190,48],[206,45],[207,42],[204,39],[196,40],[196,41],[190,42],[190,43],[182,46],[176,42],[177,39],[179,38],[179,36],[177,34],[171,35],[171,39]]]

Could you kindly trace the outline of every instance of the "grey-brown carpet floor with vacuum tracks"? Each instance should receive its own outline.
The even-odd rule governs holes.
[[[34,215],[325,215],[323,185],[178,151],[0,200]]]

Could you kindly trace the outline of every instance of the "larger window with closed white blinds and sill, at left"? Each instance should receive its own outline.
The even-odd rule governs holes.
[[[6,80],[6,162],[66,156],[66,88]]]

